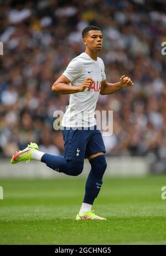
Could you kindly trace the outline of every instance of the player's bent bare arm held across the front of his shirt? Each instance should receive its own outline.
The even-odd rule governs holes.
[[[88,77],[85,79],[81,86],[69,86],[71,81],[65,77],[63,74],[55,81],[52,86],[53,93],[60,94],[72,94],[77,92],[84,92],[86,88],[89,88],[92,83],[92,78]]]

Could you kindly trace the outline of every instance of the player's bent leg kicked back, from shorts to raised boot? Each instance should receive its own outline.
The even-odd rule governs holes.
[[[81,149],[82,153],[85,152],[84,143],[80,139],[77,140],[77,132],[75,130],[66,130],[63,132],[63,135],[65,141],[65,157],[40,152],[36,143],[30,143],[27,148],[17,152],[13,156],[11,163],[14,164],[23,160],[29,162],[31,159],[39,160],[57,172],[63,172],[72,176],[79,175],[84,167],[84,158],[80,159],[77,157],[77,154],[81,155],[77,153],[77,143],[81,143],[79,144],[79,150]],[[75,155],[73,157],[71,152],[75,153],[76,157]]]

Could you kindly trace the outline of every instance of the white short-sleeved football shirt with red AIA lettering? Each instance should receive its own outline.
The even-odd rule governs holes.
[[[92,77],[92,84],[84,92],[70,94],[69,106],[66,109],[61,126],[95,126],[96,103],[100,94],[101,82],[106,79],[102,59],[97,58],[97,61],[94,61],[87,53],[81,53],[72,59],[63,74],[70,80],[70,86],[81,86],[88,77]]]

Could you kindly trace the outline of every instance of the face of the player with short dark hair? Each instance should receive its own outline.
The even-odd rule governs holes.
[[[102,49],[103,37],[100,30],[91,30],[83,39],[84,44],[91,51],[99,52]]]

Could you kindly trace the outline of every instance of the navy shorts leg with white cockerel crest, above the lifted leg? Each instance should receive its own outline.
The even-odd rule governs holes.
[[[84,130],[64,129],[64,157],[68,160],[84,161],[86,142]]]

